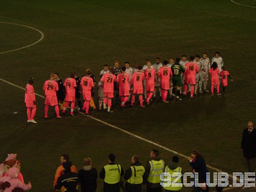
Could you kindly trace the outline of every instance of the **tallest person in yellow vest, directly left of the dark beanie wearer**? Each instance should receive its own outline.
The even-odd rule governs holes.
[[[147,192],[161,192],[160,175],[164,171],[164,160],[159,156],[157,149],[150,152],[150,161],[147,162],[143,176],[143,184],[147,183]]]

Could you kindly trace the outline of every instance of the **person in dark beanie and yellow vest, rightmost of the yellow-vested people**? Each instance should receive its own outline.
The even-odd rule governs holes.
[[[171,175],[174,172],[180,172],[182,175],[184,174],[183,170],[181,167],[179,167],[179,157],[178,156],[173,156],[172,157],[172,162],[170,162],[168,164],[168,166],[165,167],[164,172],[169,172]],[[165,179],[167,179],[167,176],[164,177]],[[174,181],[176,179],[176,177],[172,177],[171,181]],[[164,182],[167,183],[167,182]],[[181,177],[179,180],[177,180],[176,183],[183,183],[183,177]],[[173,187],[172,185],[170,185],[169,187],[163,187],[166,192],[179,192],[182,188],[182,186],[180,187]]]

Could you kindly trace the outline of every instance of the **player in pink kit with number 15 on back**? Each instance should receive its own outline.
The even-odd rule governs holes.
[[[164,66],[158,71],[158,78],[160,78],[161,96],[164,103],[169,103],[166,100],[168,91],[170,90],[170,77],[172,76],[172,69],[167,67],[168,61],[164,60]]]

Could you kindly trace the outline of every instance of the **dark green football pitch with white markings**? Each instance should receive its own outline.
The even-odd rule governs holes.
[[[254,0],[0,1],[0,161],[17,153],[31,191],[53,191],[63,153],[77,170],[90,157],[99,173],[109,153],[116,154],[125,170],[134,154],[145,166],[156,148],[165,164],[176,153],[180,166],[191,172],[184,157],[196,149],[211,173],[246,172],[240,143],[247,122],[256,121],[255,26]],[[203,92],[194,100],[162,103],[158,92],[145,108],[139,107],[137,97],[135,106],[125,110],[113,99],[111,114],[96,109],[91,116],[57,119],[49,108],[50,118],[44,119],[42,87],[50,72],[64,80],[71,71],[82,77],[90,68],[98,82],[103,65],[113,66],[115,60],[134,67],[136,61],[143,66],[147,58],[153,64],[156,57],[163,62],[183,54],[202,57],[203,52],[212,60],[216,51],[234,79],[220,96]],[[38,94],[37,124],[27,123],[22,88],[29,77],[34,77]],[[97,186],[103,191],[102,179]]]

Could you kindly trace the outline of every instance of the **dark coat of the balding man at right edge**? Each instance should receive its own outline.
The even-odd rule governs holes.
[[[244,157],[247,159],[256,157],[256,129],[254,127],[250,134],[248,128],[244,129],[241,149],[243,149]]]

